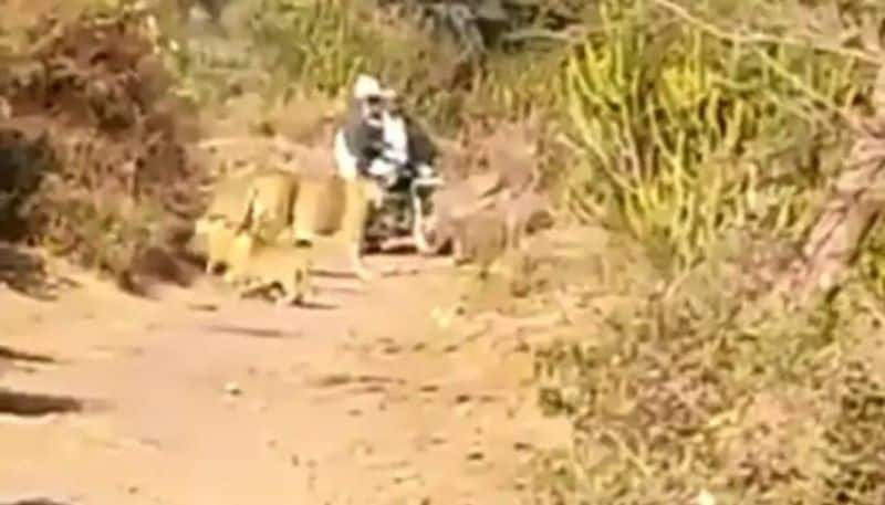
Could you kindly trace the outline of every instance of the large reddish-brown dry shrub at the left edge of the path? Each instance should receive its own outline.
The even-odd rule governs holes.
[[[198,209],[200,170],[185,150],[196,123],[169,92],[144,13],[43,18],[25,35],[0,74],[3,148],[18,160],[0,188],[15,188],[6,217],[22,218],[4,234],[121,273],[158,222]]]

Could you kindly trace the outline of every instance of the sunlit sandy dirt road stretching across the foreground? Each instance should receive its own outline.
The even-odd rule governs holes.
[[[2,391],[82,402],[0,396],[0,504],[524,503],[522,464],[563,427],[534,408],[519,325],[440,328],[451,273],[374,259],[392,261],[423,271],[364,292],[325,277],[320,308],[211,283],[157,299],[88,276],[54,302],[0,290]]]

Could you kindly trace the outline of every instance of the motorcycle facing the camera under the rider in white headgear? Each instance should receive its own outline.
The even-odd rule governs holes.
[[[431,253],[431,201],[442,178],[426,165],[418,169],[394,165],[388,175],[376,180],[384,189],[384,198],[378,208],[369,211],[365,251],[379,252],[391,242],[409,239],[419,253]]]

